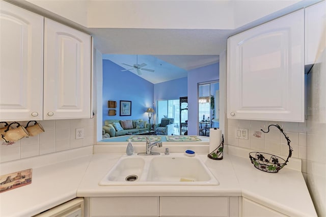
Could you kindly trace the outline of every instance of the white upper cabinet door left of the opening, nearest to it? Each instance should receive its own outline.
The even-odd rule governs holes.
[[[44,21],[44,120],[91,117],[91,37]]]

